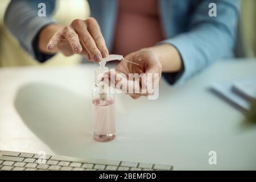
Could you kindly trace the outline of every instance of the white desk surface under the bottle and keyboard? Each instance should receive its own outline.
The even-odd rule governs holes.
[[[118,95],[117,139],[92,139],[97,65],[0,69],[0,150],[172,164],[175,169],[256,169],[256,124],[207,88],[256,74],[256,61],[219,61],[158,100]],[[217,165],[208,152],[217,152]]]

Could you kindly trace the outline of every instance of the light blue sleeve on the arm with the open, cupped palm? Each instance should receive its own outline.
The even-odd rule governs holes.
[[[217,16],[209,16],[210,3],[216,3]],[[181,84],[207,65],[233,56],[240,1],[204,0],[191,14],[189,30],[161,43],[172,44],[183,60],[183,72],[164,73],[170,84]],[[172,74],[172,75],[171,75]]]

